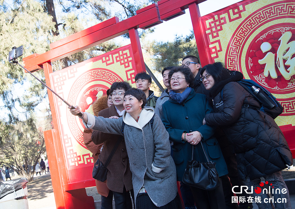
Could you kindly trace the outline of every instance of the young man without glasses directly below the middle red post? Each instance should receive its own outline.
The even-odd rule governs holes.
[[[137,73],[135,75],[136,88],[142,90],[147,97],[147,101],[144,106],[153,107],[155,109],[156,102],[159,97],[154,95],[154,91],[149,90],[152,83],[152,78],[146,72]]]

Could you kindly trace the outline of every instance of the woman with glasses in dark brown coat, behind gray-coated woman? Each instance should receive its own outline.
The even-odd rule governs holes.
[[[98,112],[98,116],[110,118],[120,117],[124,113],[123,99],[125,92],[131,86],[127,82],[114,82],[110,87],[113,105]],[[105,134],[100,131],[93,131],[91,139],[95,144],[103,143],[101,153],[98,155],[103,164],[107,161],[118,138],[116,134]],[[112,138],[112,140],[108,140]],[[113,192],[116,209],[132,209],[130,193],[133,197],[132,174],[129,167],[129,160],[126,151],[125,141],[122,140],[116,149],[110,163],[107,166],[107,187]]]

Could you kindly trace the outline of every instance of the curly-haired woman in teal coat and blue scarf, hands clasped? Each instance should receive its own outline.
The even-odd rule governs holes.
[[[213,112],[205,95],[196,94],[191,84],[194,75],[187,67],[175,67],[169,72],[172,90],[169,100],[162,106],[162,121],[173,141],[173,159],[176,164],[177,180],[182,181],[188,161],[191,160],[194,147],[194,160],[207,162],[202,144],[209,161],[216,162],[219,176],[228,173],[219,144],[213,137],[215,126],[203,125],[206,114]],[[197,208],[225,208],[222,184],[216,189],[204,190],[191,186]]]

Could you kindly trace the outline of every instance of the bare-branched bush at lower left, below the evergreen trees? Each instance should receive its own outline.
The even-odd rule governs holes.
[[[33,180],[36,164],[45,152],[43,128],[33,118],[14,124],[0,121],[0,164]]]

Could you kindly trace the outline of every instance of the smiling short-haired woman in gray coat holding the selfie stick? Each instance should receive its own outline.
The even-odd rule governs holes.
[[[81,118],[87,128],[124,135],[136,208],[179,209],[181,204],[169,135],[154,109],[144,108],[145,100],[143,91],[131,88],[124,94],[123,117],[95,117],[85,112]],[[77,115],[79,107],[70,109],[70,112]],[[121,131],[123,121],[124,134]]]

